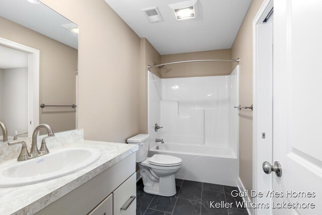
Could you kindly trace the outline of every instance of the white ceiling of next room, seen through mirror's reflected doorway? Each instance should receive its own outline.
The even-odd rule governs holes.
[[[20,68],[28,66],[28,54],[0,45],[0,68]]]

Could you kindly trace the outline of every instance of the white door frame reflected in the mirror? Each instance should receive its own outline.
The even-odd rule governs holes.
[[[0,37],[0,44],[28,53],[28,136],[39,124],[39,63],[40,51]]]

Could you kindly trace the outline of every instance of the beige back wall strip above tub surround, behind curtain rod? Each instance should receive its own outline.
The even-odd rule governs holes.
[[[198,51],[180,54],[161,55],[161,63],[201,60],[201,59],[230,59],[230,49]],[[160,68],[162,78],[183,78],[200,76],[223,76],[232,71],[231,62],[193,62],[166,65]],[[236,65],[236,63],[233,63]]]

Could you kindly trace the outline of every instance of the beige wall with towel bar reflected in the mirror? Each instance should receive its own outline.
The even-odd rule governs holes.
[[[40,104],[76,102],[76,49],[3,17],[0,28],[0,37],[40,50]],[[39,108],[39,112],[39,122],[51,125],[54,132],[75,129],[75,111],[71,108]]]

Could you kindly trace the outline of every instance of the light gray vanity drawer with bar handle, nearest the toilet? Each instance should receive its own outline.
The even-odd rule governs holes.
[[[113,215],[133,215],[136,212],[136,173],[113,192]]]

